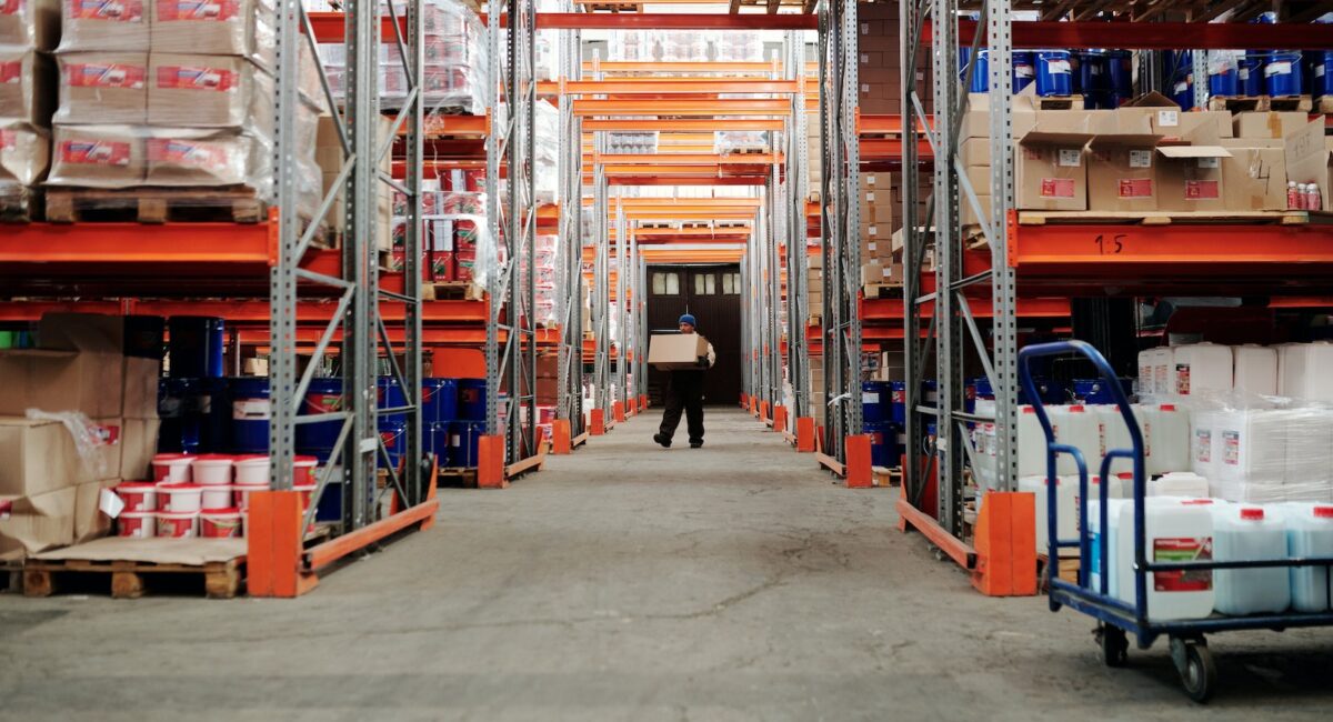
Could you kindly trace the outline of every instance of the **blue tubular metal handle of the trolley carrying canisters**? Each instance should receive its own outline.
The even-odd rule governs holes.
[[[1108,480],[1110,476],[1110,464],[1116,458],[1129,458],[1130,462],[1133,464],[1134,498],[1140,500],[1136,504],[1136,525],[1137,528],[1142,529],[1141,500],[1144,498],[1144,494],[1146,492],[1144,485],[1144,438],[1142,433],[1138,429],[1138,424],[1134,421],[1134,413],[1129,408],[1129,398],[1125,397],[1125,390],[1124,388],[1121,388],[1120,380],[1116,377],[1116,372],[1112,370],[1110,364],[1106,362],[1106,358],[1101,354],[1101,352],[1098,352],[1090,344],[1085,341],[1054,341],[1050,344],[1034,344],[1030,346],[1024,346],[1022,349],[1018,350],[1018,381],[1020,384],[1022,384],[1022,390],[1026,393],[1028,400],[1032,402],[1032,408],[1037,414],[1037,421],[1041,424],[1041,432],[1046,437],[1046,524],[1048,524],[1046,541],[1049,546],[1048,559],[1050,559],[1050,562],[1048,563],[1056,563],[1056,561],[1060,558],[1058,553],[1061,547],[1077,545],[1081,561],[1078,569],[1078,577],[1081,582],[1080,586],[1086,587],[1089,585],[1088,575],[1090,574],[1092,570],[1092,542],[1086,533],[1088,505],[1081,504],[1078,509],[1080,529],[1082,530],[1078,534],[1078,541],[1061,542],[1057,538],[1057,532],[1056,532],[1058,526],[1056,514],[1058,506],[1056,501],[1056,457],[1061,453],[1066,453],[1074,458],[1074,464],[1078,468],[1078,496],[1080,496],[1078,498],[1082,500],[1088,498],[1088,465],[1084,461],[1082,453],[1078,449],[1069,446],[1066,444],[1058,444],[1056,441],[1054,429],[1052,429],[1050,426],[1050,417],[1046,416],[1045,404],[1042,404],[1041,397],[1037,394],[1037,385],[1032,378],[1032,368],[1030,368],[1033,358],[1040,358],[1045,356],[1061,356],[1066,353],[1077,353],[1092,361],[1093,366],[1097,368],[1098,376],[1101,376],[1101,380],[1105,381],[1106,386],[1110,389],[1112,401],[1116,404],[1117,410],[1120,410],[1121,418],[1125,421],[1125,426],[1129,429],[1129,438],[1132,442],[1132,448],[1109,449],[1105,457],[1101,460],[1102,484],[1101,488],[1098,489],[1098,500],[1100,500],[1098,522],[1100,522],[1100,529],[1104,530],[1102,532],[1104,536],[1105,530],[1109,528],[1108,510],[1106,510],[1108,489],[1109,489]],[[1138,546],[1140,547],[1142,546],[1141,541],[1138,542]],[[1108,543],[1101,545],[1098,555],[1101,557],[1098,559],[1101,562],[1098,567],[1102,570],[1101,583],[1100,583],[1101,589],[1098,591],[1101,594],[1106,594],[1108,582],[1110,577],[1109,573],[1110,551]],[[1142,551],[1140,550],[1137,555],[1141,558]],[[1141,586],[1142,575],[1140,575],[1138,578]],[[1054,583],[1054,581],[1052,581],[1052,583]],[[1138,605],[1140,609],[1142,609],[1144,606],[1141,597]],[[1056,606],[1057,603],[1052,601],[1052,607]]]

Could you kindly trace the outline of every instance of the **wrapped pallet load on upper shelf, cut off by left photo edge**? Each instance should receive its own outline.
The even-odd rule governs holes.
[[[51,112],[60,41],[56,0],[0,4],[0,220],[35,216],[51,160]]]

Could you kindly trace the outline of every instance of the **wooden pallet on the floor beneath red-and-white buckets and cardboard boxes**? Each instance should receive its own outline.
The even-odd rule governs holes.
[[[25,597],[49,597],[60,591],[63,585],[87,581],[93,575],[111,575],[111,597],[115,599],[137,599],[151,583],[168,575],[203,575],[204,594],[209,599],[231,599],[241,591],[244,581],[244,558],[203,565],[153,563],[128,561],[88,561],[88,559],[28,559],[23,567],[23,593]],[[83,578],[83,579],[76,579]]]

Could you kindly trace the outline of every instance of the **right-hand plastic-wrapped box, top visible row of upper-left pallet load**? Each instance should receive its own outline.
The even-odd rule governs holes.
[[[272,69],[277,59],[277,16],[261,0],[156,0],[152,51],[232,55]]]

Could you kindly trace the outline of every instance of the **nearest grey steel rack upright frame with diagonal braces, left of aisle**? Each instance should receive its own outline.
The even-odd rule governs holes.
[[[372,5],[373,8],[373,5]],[[296,113],[289,112],[299,100],[299,48],[309,44],[315,53],[315,33],[309,17],[297,0],[284,0],[279,13],[279,63],[277,63],[277,103],[276,121],[277,143],[275,144],[273,167],[277,169],[275,204],[277,208],[277,253],[272,268],[271,282],[271,360],[269,384],[272,401],[272,421],[269,436],[269,460],[272,486],[275,490],[288,490],[293,480],[295,429],[300,424],[343,420],[337,449],[323,469],[319,486],[305,521],[313,520],[319,497],[324,493],[343,494],[344,518],[341,532],[353,532],[375,524],[379,517],[379,493],[376,490],[377,461],[388,462],[389,454],[376,430],[376,376],[380,344],[391,360],[392,374],[404,389],[407,405],[395,413],[404,413],[408,420],[407,453],[409,460],[404,468],[389,468],[389,485],[385,493],[395,492],[407,505],[424,500],[424,485],[420,464],[411,460],[421,458],[421,316],[420,316],[420,208],[419,196],[421,164],[421,123],[423,97],[416,81],[421,77],[423,44],[419,23],[419,5],[409,5],[403,19],[407,33],[392,4],[385,12],[393,16],[391,27],[395,43],[400,49],[411,47],[413,52],[401,52],[407,77],[412,81],[408,101],[395,117],[395,133],[405,132],[408,173],[403,182],[385,179],[380,172],[380,161],[393,148],[392,140],[377,139],[379,89],[377,63],[380,51],[381,19],[379,11],[367,11],[361,5],[351,5],[344,17],[347,43],[347,101],[341,112],[333,101],[327,80],[324,80],[325,100],[335,113],[339,139],[345,156],[347,240],[341,250],[341,274],[331,276],[301,268],[301,261],[311,246],[313,229],[333,205],[337,189],[331,189],[320,206],[320,213],[309,230],[303,233],[297,218],[297,168],[288,163],[288,149],[296,139]],[[323,68],[320,77],[324,79]],[[376,217],[375,198],[379,186],[387,182],[408,197],[407,238],[405,238],[405,285],[401,294],[393,300],[405,308],[401,349],[405,366],[395,360],[384,320],[380,317],[381,290],[379,288],[379,260],[373,245],[372,224]],[[311,384],[316,365],[307,368],[304,374],[296,373],[297,333],[296,296],[297,282],[305,281],[332,286],[339,292],[339,312],[320,334],[315,346],[316,354],[324,353],[341,326],[341,366],[344,398],[343,409],[333,413],[303,414],[301,401]],[[391,466],[385,464],[385,466]]]

